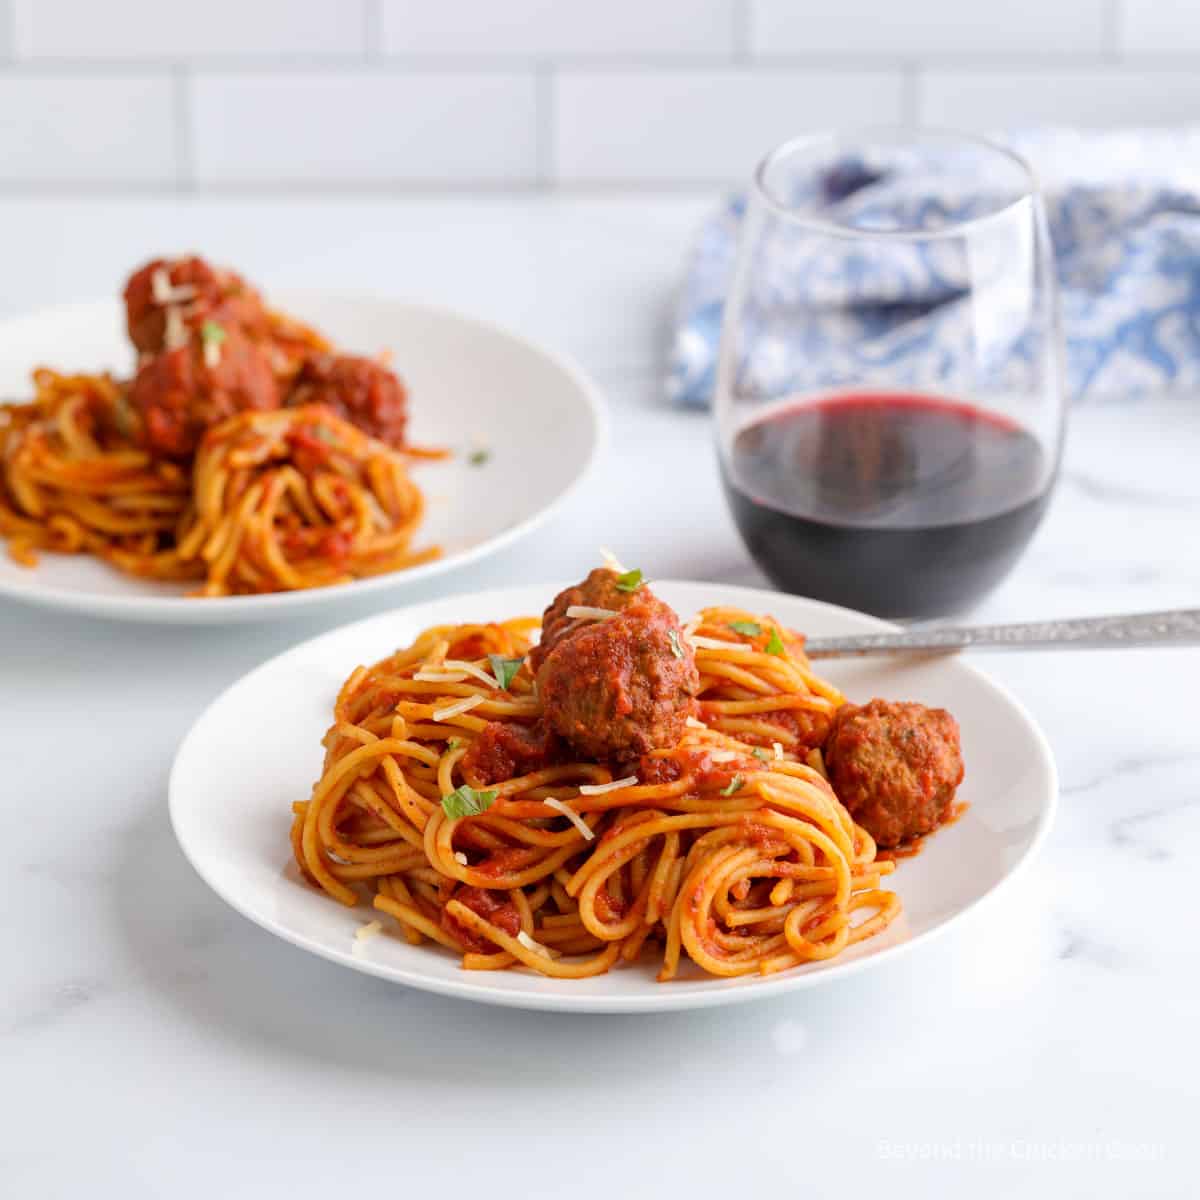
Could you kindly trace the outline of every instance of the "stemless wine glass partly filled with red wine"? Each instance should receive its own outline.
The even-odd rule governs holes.
[[[912,130],[768,155],[715,409],[726,496],[778,586],[901,618],[979,600],[1037,529],[1062,446],[1054,258],[1030,168]]]

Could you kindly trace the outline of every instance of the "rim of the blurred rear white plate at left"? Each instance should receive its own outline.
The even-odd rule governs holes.
[[[109,595],[104,593],[78,592],[72,588],[47,586],[36,577],[37,568],[29,571],[29,578],[7,578],[0,576],[0,598],[14,600],[37,608],[58,612],[77,612],[90,617],[110,620],[127,620],[155,625],[221,625],[238,622],[265,620],[270,618],[299,617],[324,605],[342,600],[356,600],[389,588],[403,588],[407,584],[427,582],[439,575],[460,568],[469,566],[508,548],[514,542],[528,536],[541,524],[557,514],[575,493],[593,476],[598,464],[605,456],[611,439],[611,422],[604,390],[583,366],[570,354],[534,341],[500,322],[479,317],[450,305],[426,304],[420,300],[407,300],[386,293],[337,288],[278,288],[272,293],[284,304],[288,298],[304,298],[312,301],[332,300],[340,304],[386,305],[392,310],[407,310],[439,320],[456,322],[490,335],[505,338],[522,349],[551,362],[575,384],[582,397],[581,413],[588,425],[588,449],[578,472],[566,485],[553,496],[548,503],[529,514],[522,521],[503,529],[500,533],[475,546],[428,563],[384,575],[373,575],[361,580],[352,580],[328,588],[305,588],[296,592],[269,592],[262,595],[245,596],[180,596],[180,595]],[[79,317],[89,311],[107,308],[113,312],[119,302],[112,299],[71,300],[56,305],[47,305],[25,313],[16,313],[0,319],[0,337],[10,332],[12,326],[54,319],[56,316],[72,314]],[[0,539],[0,553],[5,552]]]

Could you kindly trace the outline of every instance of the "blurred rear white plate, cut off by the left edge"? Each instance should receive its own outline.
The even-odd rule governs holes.
[[[444,556],[332,588],[205,600],[82,554],[43,554],[36,568],[23,568],[0,545],[0,594],[95,616],[187,624],[311,612],[368,592],[398,592],[499,550],[550,516],[596,457],[605,424],[596,388],[572,364],[516,334],[397,300],[281,292],[271,301],[348,350],[392,352],[412,397],[414,443],[456,451],[449,462],[413,468],[428,502],[418,545],[437,542]],[[130,364],[116,302],[0,323],[0,397],[28,396],[35,366],[128,372]],[[490,452],[480,467],[468,461],[476,446]]]

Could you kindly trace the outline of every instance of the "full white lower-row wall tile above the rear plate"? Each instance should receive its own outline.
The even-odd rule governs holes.
[[[200,74],[197,184],[530,182],[532,73]]]

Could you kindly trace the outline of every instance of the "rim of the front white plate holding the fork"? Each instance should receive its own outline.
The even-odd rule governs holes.
[[[736,602],[737,598],[740,598],[748,602],[748,607],[754,607],[755,605],[766,604],[769,607],[769,598],[778,598],[784,600],[799,600],[806,605],[811,605],[818,608],[823,608],[839,614],[852,614],[854,618],[860,620],[871,622],[881,632],[882,631],[896,631],[900,626],[892,622],[882,620],[878,617],[872,617],[869,613],[859,612],[854,608],[846,608],[842,605],[828,604],[823,600],[815,600],[809,596],[796,596],[790,593],[773,592],[766,588],[754,588],[745,587],[742,584],[730,584],[730,583],[714,583],[703,580],[655,580],[656,584],[664,584],[666,587],[672,587],[677,584],[686,587],[704,587],[712,588],[720,592],[722,596],[732,596],[733,600],[722,600],[720,602]],[[202,865],[200,856],[193,856],[188,848],[187,839],[184,833],[181,833],[180,826],[184,824],[184,818],[181,816],[182,802],[180,800],[181,791],[181,772],[185,764],[187,755],[191,752],[191,745],[193,740],[198,740],[198,731],[202,730],[204,724],[227,700],[227,697],[242,684],[257,678],[260,674],[266,673],[272,667],[275,667],[281,660],[288,658],[293,654],[300,654],[301,652],[310,650],[317,643],[323,640],[332,640],[340,637],[344,634],[354,632],[361,626],[370,625],[372,623],[386,622],[389,619],[395,619],[406,612],[427,607],[430,605],[443,606],[446,604],[454,604],[460,600],[484,600],[487,598],[487,602],[491,602],[491,598],[499,598],[503,602],[505,595],[526,594],[533,589],[536,589],[545,595],[556,595],[562,587],[568,584],[562,583],[550,583],[550,584],[520,584],[516,587],[506,588],[486,588],[478,592],[462,592],[455,593],[448,596],[439,596],[430,600],[421,600],[409,605],[402,605],[397,608],[389,610],[388,612],[374,613],[370,617],[365,617],[359,620],[347,622],[346,624],[335,626],[334,629],[325,630],[314,637],[306,638],[301,642],[296,642],[294,646],[288,647],[288,649],[280,652],[278,654],[271,655],[271,658],[258,664],[258,666],[252,667],[250,671],[245,672],[233,683],[228,684],[221,690],[221,692],[214,697],[214,700],[205,706],[203,712],[200,712],[193,720],[192,725],[184,734],[175,751],[175,757],[172,761],[170,773],[167,782],[167,808],[168,816],[170,820],[172,833],[175,838],[175,842],[179,846],[184,858],[191,865],[192,870],[204,881],[204,883],[223,900],[230,908],[238,912],[240,916],[251,920],[259,929],[272,934],[274,936],[281,938],[282,941],[296,947],[301,950],[307,950],[311,954],[317,955],[329,962],[336,964],[337,966],[349,967],[353,971],[358,971],[362,974],[373,976],[374,978],[384,979],[388,983],[398,984],[401,986],[414,988],[419,991],[426,991],[439,996],[450,996],[457,1000],[467,1000],[474,1003],[497,1006],[502,1008],[517,1008],[529,1012],[562,1012],[562,1013],[601,1013],[601,1014],[632,1014],[632,1013],[661,1013],[661,1012],[685,1012],[690,1009],[698,1008],[718,1008],[726,1004],[738,1004],[748,1003],[755,1000],[766,1000],[772,996],[779,996],[784,992],[800,991],[808,988],[817,986],[826,983],[835,983],[840,979],[850,978],[851,976],[858,974],[859,972],[868,970],[869,967],[880,966],[886,962],[894,962],[901,956],[906,955],[917,946],[924,946],[930,943],[934,938],[942,936],[947,930],[956,929],[959,925],[979,912],[979,910],[986,905],[995,901],[997,895],[1007,894],[1009,886],[1016,878],[1020,878],[1025,871],[1028,869],[1030,863],[1032,863],[1044,847],[1050,832],[1054,827],[1055,816],[1058,810],[1060,804],[1060,779],[1057,763],[1055,762],[1054,750],[1050,745],[1040,725],[1034,720],[1030,710],[1018,700],[1003,684],[992,679],[980,668],[976,667],[970,661],[964,661],[961,658],[955,658],[955,662],[959,667],[971,674],[978,684],[982,684],[985,689],[990,690],[1001,701],[1007,703],[1020,718],[1020,720],[1027,727],[1032,745],[1036,749],[1037,757],[1040,761],[1042,770],[1046,781],[1046,797],[1045,803],[1042,805],[1037,815],[1037,824],[1030,838],[1028,844],[1008,871],[998,878],[988,890],[983,892],[980,895],[976,896],[970,904],[959,908],[956,912],[947,917],[944,920],[930,929],[923,930],[911,937],[905,938],[902,942],[894,942],[889,946],[884,946],[872,954],[865,954],[860,958],[851,959],[848,961],[839,962],[833,961],[824,966],[820,971],[808,972],[808,973],[796,973],[781,971],[776,976],[768,977],[766,979],[757,980],[754,986],[742,986],[742,988],[730,988],[727,990],[710,990],[710,991],[678,991],[672,989],[670,985],[662,985],[660,990],[649,991],[644,994],[630,994],[630,995],[617,995],[617,996],[594,996],[594,995],[572,995],[569,990],[559,991],[545,991],[545,992],[527,992],[527,991],[504,991],[500,989],[490,989],[486,982],[474,982],[470,977],[474,974],[487,974],[487,972],[463,972],[464,978],[462,980],[455,979],[439,979],[436,977],[420,976],[416,972],[410,972],[404,968],[397,970],[394,966],[389,966],[380,962],[374,962],[368,958],[358,958],[352,950],[340,950],[331,946],[324,944],[322,942],[314,941],[313,938],[306,937],[302,934],[295,932],[280,923],[269,923],[265,917],[260,917],[257,912],[252,911],[251,906],[244,904],[238,899],[235,894],[230,894],[229,890],[223,888],[221,884],[215,882],[209,874],[205,871],[204,865]],[[767,599],[764,599],[767,598]],[[706,980],[706,982],[720,982],[720,980]],[[545,980],[541,980],[545,983]]]

